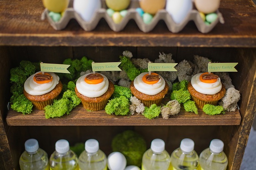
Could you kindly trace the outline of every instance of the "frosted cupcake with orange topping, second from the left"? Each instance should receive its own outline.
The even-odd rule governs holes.
[[[75,92],[87,110],[104,109],[114,93],[114,84],[100,73],[88,73],[77,79]]]

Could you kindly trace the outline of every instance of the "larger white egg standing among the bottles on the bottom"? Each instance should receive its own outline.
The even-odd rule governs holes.
[[[107,167],[109,170],[124,170],[126,158],[120,152],[112,152],[107,157]]]

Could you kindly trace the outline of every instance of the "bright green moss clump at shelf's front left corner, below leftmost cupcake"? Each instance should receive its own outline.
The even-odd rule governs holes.
[[[22,114],[30,114],[32,112],[33,104],[23,94],[17,95],[12,100],[11,108],[16,112]]]

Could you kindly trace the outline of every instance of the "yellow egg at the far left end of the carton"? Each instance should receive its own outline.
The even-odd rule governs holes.
[[[47,10],[61,13],[68,6],[68,0],[43,0],[43,5]]]

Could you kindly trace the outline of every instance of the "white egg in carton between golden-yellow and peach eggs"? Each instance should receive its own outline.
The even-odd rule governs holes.
[[[191,0],[167,0],[166,10],[174,22],[181,23],[192,10]]]

